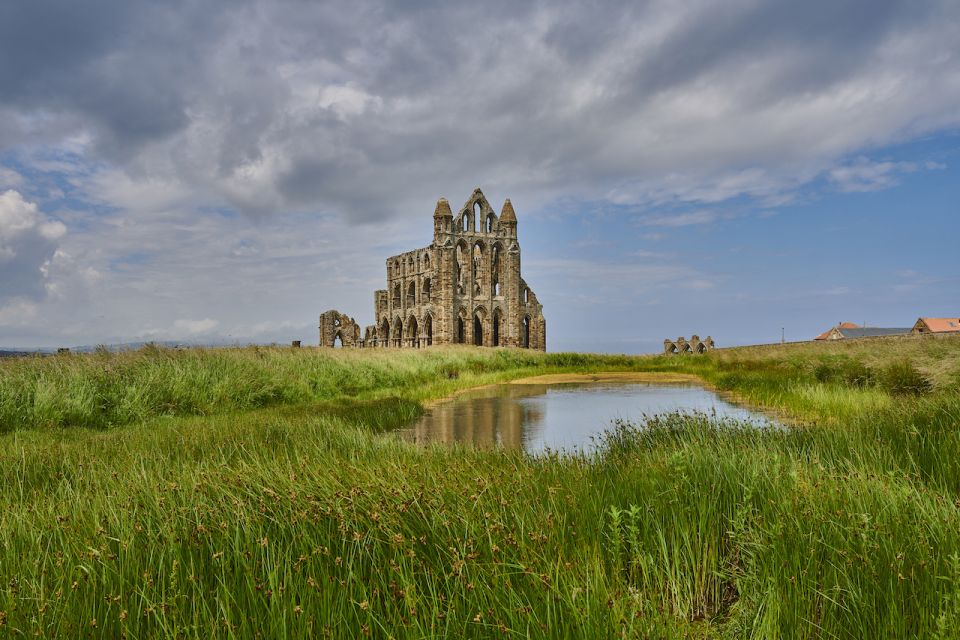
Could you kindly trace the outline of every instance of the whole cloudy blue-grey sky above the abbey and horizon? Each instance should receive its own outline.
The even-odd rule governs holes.
[[[476,186],[551,351],[958,316],[960,4],[0,4],[0,347],[315,344]]]

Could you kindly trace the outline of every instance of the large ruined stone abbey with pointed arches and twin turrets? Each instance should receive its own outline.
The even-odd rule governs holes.
[[[520,276],[509,199],[497,216],[478,187],[454,216],[440,198],[430,246],[388,258],[386,266],[387,288],[373,294],[376,324],[361,335],[353,318],[327,311],[320,316],[320,346],[546,350],[543,306]]]

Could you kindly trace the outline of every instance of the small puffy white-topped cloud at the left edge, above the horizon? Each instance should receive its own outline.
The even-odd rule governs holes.
[[[66,232],[62,222],[40,213],[18,191],[0,193],[0,304],[44,297],[45,269]]]

